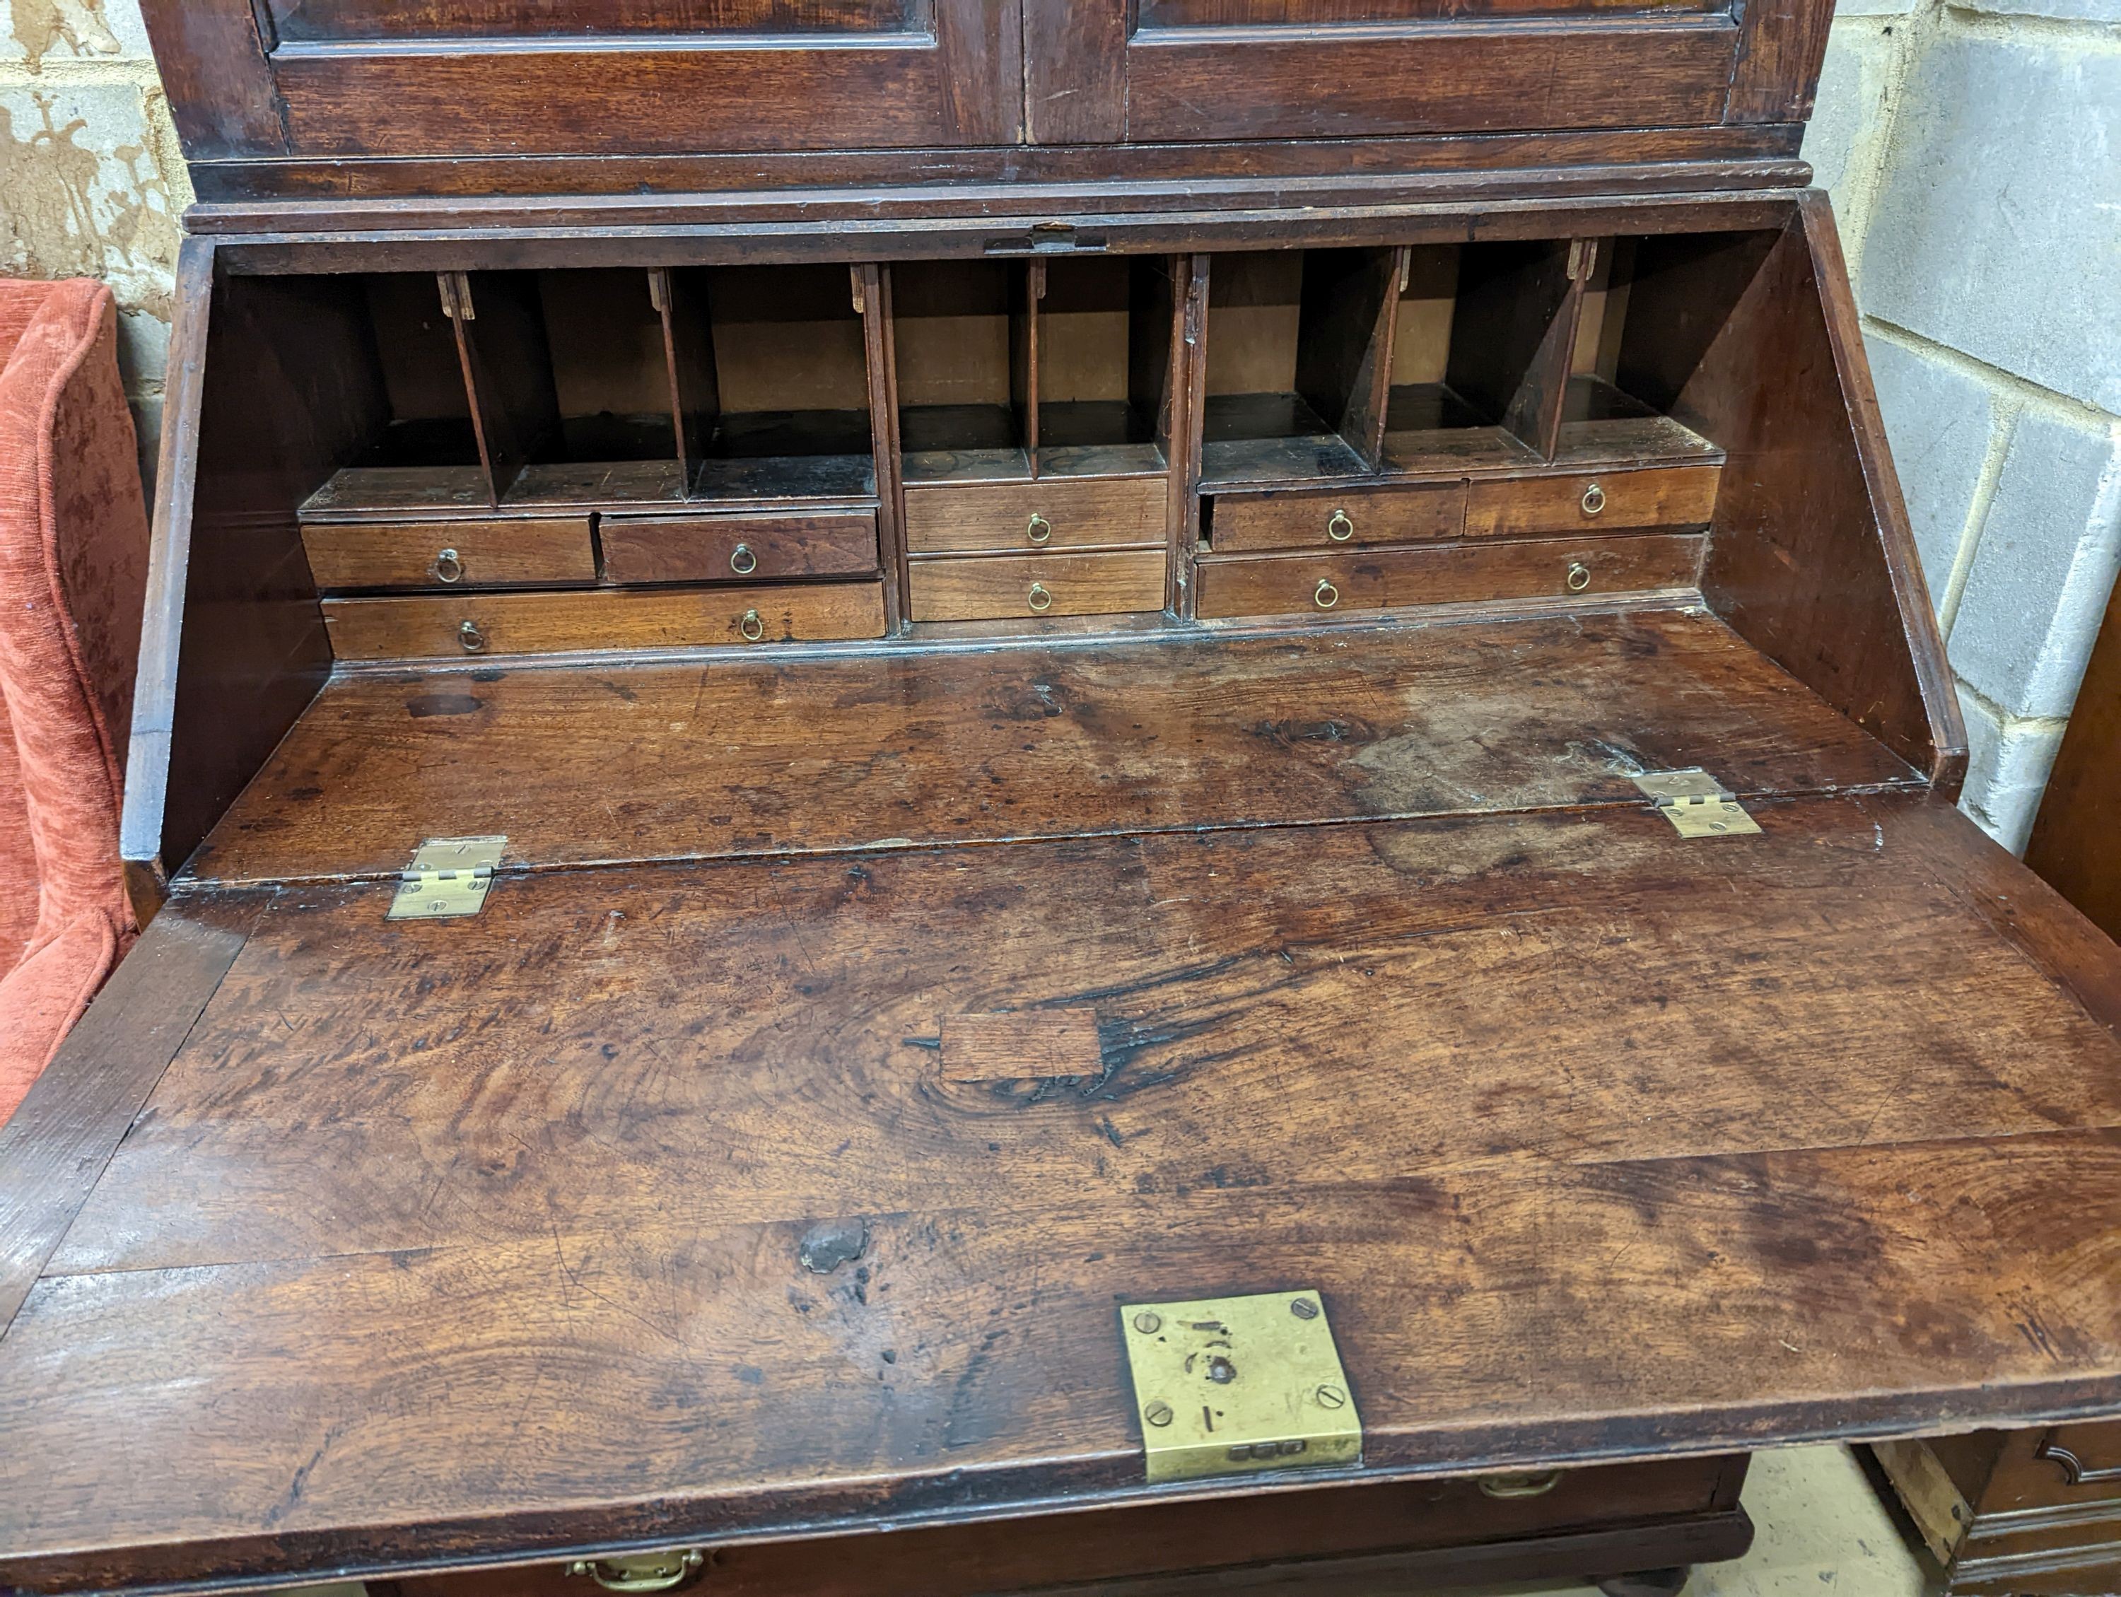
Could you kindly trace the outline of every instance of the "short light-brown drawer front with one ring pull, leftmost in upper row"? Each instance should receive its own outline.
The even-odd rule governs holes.
[[[492,522],[308,522],[310,575],[333,587],[511,587],[594,583],[590,517]]]

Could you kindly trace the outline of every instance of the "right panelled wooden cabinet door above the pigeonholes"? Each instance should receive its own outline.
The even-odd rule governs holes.
[[[1039,144],[1777,121],[1803,115],[1818,76],[1809,45],[1741,49],[1771,21],[1809,25],[1773,0],[1750,6],[1777,13],[1752,28],[1733,0],[1022,4]]]

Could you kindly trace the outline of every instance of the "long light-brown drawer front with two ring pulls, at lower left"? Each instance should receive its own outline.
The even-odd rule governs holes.
[[[331,598],[339,660],[464,660],[568,649],[706,649],[884,636],[882,583]]]

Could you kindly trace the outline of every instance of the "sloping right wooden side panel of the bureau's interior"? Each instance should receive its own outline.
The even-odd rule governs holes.
[[[1642,240],[1620,386],[1729,452],[1716,611],[1956,793],[1966,738],[1824,195],[1773,235]]]

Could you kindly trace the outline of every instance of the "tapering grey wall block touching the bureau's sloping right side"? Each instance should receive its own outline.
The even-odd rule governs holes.
[[[1881,333],[1866,339],[1866,350],[1922,575],[1930,602],[1941,604],[1987,458],[1994,401],[1979,378]]]

